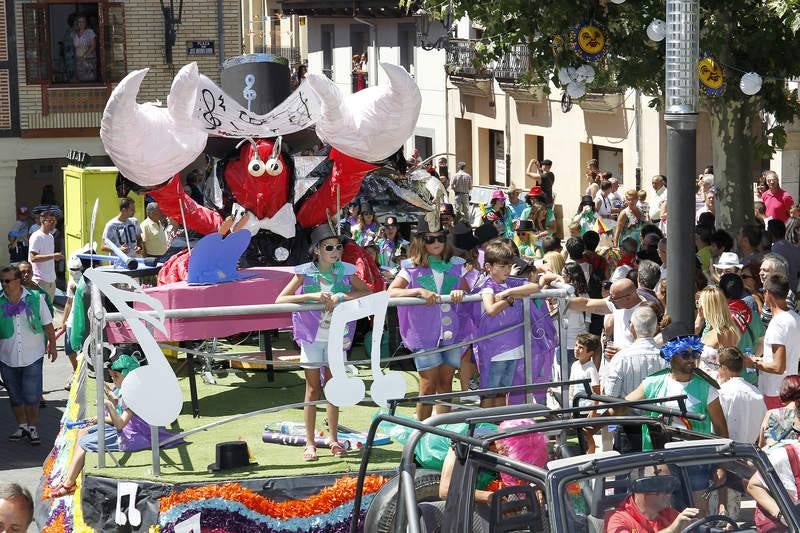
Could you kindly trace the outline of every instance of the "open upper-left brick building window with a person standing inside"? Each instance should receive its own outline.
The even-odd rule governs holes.
[[[96,85],[127,74],[123,4],[40,2],[22,9],[27,83]]]

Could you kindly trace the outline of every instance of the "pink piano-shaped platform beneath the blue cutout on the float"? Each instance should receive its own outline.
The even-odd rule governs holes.
[[[275,298],[292,278],[293,267],[248,268],[252,278],[217,285],[187,285],[185,281],[145,289],[145,292],[164,304],[164,309],[187,309],[226,305],[275,303]],[[145,309],[137,305],[137,309]],[[167,336],[155,330],[159,341],[200,340],[227,337],[246,331],[286,328],[292,325],[291,313],[277,315],[244,315],[228,317],[170,318],[165,320]],[[109,342],[135,342],[124,322],[106,326]]]

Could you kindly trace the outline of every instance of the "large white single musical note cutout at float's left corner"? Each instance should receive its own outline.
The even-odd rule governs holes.
[[[147,365],[131,371],[122,382],[125,405],[151,426],[170,425],[181,412],[183,394],[175,372],[145,325],[150,324],[166,335],[164,306],[145,294],[138,281],[124,274],[90,268],[83,275],[122,313],[147,358]],[[134,290],[120,289],[114,284],[130,285]],[[147,305],[156,315],[137,311],[129,302]]]

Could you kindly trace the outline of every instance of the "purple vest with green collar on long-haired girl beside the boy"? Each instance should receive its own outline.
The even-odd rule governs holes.
[[[461,284],[461,272],[464,260],[459,257],[450,259],[450,270],[444,273],[444,282],[439,294],[450,294]],[[436,291],[433,271],[430,267],[414,267],[404,264],[411,281],[409,289],[423,288]],[[412,352],[432,350],[439,346],[448,346],[462,340],[459,305],[413,305],[397,308],[400,323],[400,336],[403,344]]]

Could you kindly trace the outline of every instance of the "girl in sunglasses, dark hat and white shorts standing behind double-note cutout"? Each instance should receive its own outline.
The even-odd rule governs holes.
[[[320,399],[322,385],[320,366],[328,362],[328,337],[331,334],[341,335],[340,331],[330,331],[331,314],[336,304],[361,296],[371,291],[355,276],[356,267],[350,263],[342,263],[342,238],[328,224],[314,228],[311,232],[311,253],[314,261],[295,267],[295,275],[275,299],[275,303],[321,303],[323,311],[303,311],[292,313],[294,340],[300,345],[300,362],[310,363],[305,367],[306,394],[305,401]],[[353,343],[355,322],[350,322],[344,330],[344,349],[349,350]],[[331,378],[330,368],[322,366],[325,379]],[[329,447],[331,453],[341,457],[344,447],[337,439],[339,425],[339,409],[331,404],[326,407],[328,428],[330,431]],[[303,451],[306,461],[317,460],[317,448],[314,446],[316,433],[317,409],[307,405],[303,409],[306,427],[306,442]]]

